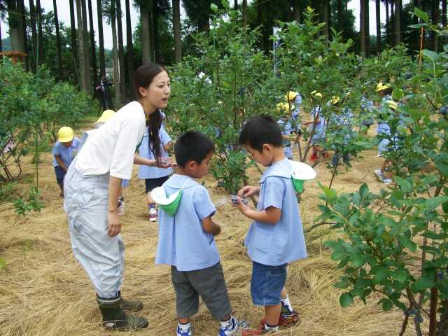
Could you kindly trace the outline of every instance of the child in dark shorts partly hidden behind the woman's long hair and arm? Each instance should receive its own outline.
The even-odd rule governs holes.
[[[139,154],[143,158],[147,158],[150,160],[154,160],[153,151],[149,148],[148,145],[148,137],[149,130],[146,127],[146,132],[144,134],[143,140],[141,141],[141,145],[139,147]],[[163,124],[159,130],[160,137],[160,153],[162,153],[162,158],[168,158],[168,151],[172,147],[172,139],[169,137],[167,131]],[[140,166],[139,167],[139,179],[145,180],[145,193],[148,202],[148,219],[150,222],[157,221],[158,213],[157,208],[155,207],[155,202],[151,197],[151,191],[154,188],[162,186],[165,181],[169,178],[169,175],[173,174],[173,169],[170,168],[158,168],[158,167],[149,167],[149,166]]]

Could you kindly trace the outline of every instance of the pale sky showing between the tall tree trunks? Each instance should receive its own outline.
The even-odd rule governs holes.
[[[217,0],[218,1],[218,0]],[[274,1],[274,0],[271,0]],[[404,0],[403,5],[405,3],[409,3],[410,0]],[[131,1],[133,2],[133,1]],[[231,1],[233,3],[233,1]],[[242,2],[242,0],[239,0],[239,2]],[[59,18],[59,22],[64,22],[66,27],[70,26],[70,7],[66,0],[57,0],[57,15]],[[248,3],[251,3],[251,1],[248,1]],[[370,25],[370,34],[376,35],[377,34],[377,24],[376,24],[376,18],[375,18],[375,4],[374,0],[370,1],[370,15],[369,15],[369,25]],[[25,1],[25,6],[28,5],[28,1]],[[125,1],[121,1],[122,10],[123,10],[123,42],[126,43],[126,20],[125,20]],[[45,9],[45,12],[49,12],[50,10],[53,10],[53,1],[52,0],[41,0],[41,6]],[[182,1],[181,1],[182,6]],[[353,14],[355,15],[356,21],[355,21],[355,27],[359,30],[359,1],[352,0],[349,2],[349,9],[353,10]],[[75,6],[76,10],[76,6]],[[92,11],[93,11],[93,22],[94,22],[94,31],[95,31],[95,40],[98,43],[98,16],[97,16],[97,1],[92,0]],[[88,12],[88,10],[87,10]],[[76,12],[75,12],[76,15]],[[88,15],[88,13],[87,13]],[[181,8],[181,15],[184,16],[184,10]],[[384,4],[381,3],[381,23],[386,22],[386,8],[384,7]],[[4,20],[1,20],[1,35],[3,38],[5,38],[8,35],[8,24],[5,22],[8,20],[8,15],[6,15],[6,18]],[[132,22],[132,31],[134,31],[135,27],[137,26],[137,22],[139,22],[139,12],[137,8],[134,6],[131,6],[131,22]],[[87,22],[88,26],[88,22]],[[112,29],[110,25],[106,24],[106,21],[103,20],[103,33],[104,33],[104,47],[107,49],[112,49]]]

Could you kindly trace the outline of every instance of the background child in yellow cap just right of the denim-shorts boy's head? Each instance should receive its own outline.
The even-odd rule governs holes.
[[[325,141],[325,117],[322,113],[322,94],[320,92],[313,91],[311,92],[311,96],[313,100],[316,102],[316,105],[313,109],[311,109],[311,120],[307,120],[302,122],[302,125],[309,125],[309,133],[311,135],[311,146],[312,153],[309,158],[310,162],[314,162],[318,159],[318,153],[321,154],[324,158],[328,157],[328,153],[325,153],[325,149],[320,146],[320,144]]]

